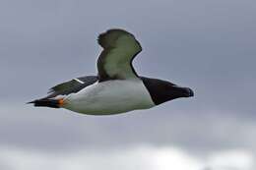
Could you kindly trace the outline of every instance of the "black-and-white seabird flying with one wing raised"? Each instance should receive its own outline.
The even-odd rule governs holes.
[[[194,96],[190,87],[136,73],[132,62],[142,51],[142,46],[131,32],[110,28],[97,36],[97,43],[102,51],[96,62],[96,76],[79,77],[55,85],[47,96],[28,103],[87,115],[113,115]]]

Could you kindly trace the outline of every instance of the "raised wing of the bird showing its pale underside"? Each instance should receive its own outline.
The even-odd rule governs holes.
[[[109,29],[98,35],[103,48],[97,59],[99,82],[138,78],[132,61],[142,51],[133,34],[123,29]]]

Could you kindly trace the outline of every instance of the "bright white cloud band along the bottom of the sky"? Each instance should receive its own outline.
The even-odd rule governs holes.
[[[2,165],[1,165],[2,163]],[[253,155],[244,150],[221,151],[199,157],[175,147],[149,145],[115,149],[81,149],[49,153],[0,148],[0,166],[6,170],[252,170]],[[1,168],[1,167],[0,167]],[[1,168],[2,169],[2,168]]]

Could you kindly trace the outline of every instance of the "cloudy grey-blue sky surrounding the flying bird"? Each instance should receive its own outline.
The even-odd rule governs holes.
[[[98,33],[125,28],[139,75],[189,86],[150,110],[34,108],[96,75]],[[0,169],[256,169],[256,1],[0,0]]]

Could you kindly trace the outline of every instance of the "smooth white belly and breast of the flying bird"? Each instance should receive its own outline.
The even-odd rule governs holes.
[[[85,114],[117,114],[155,106],[140,80],[106,81],[89,85],[65,98],[64,108]]]

